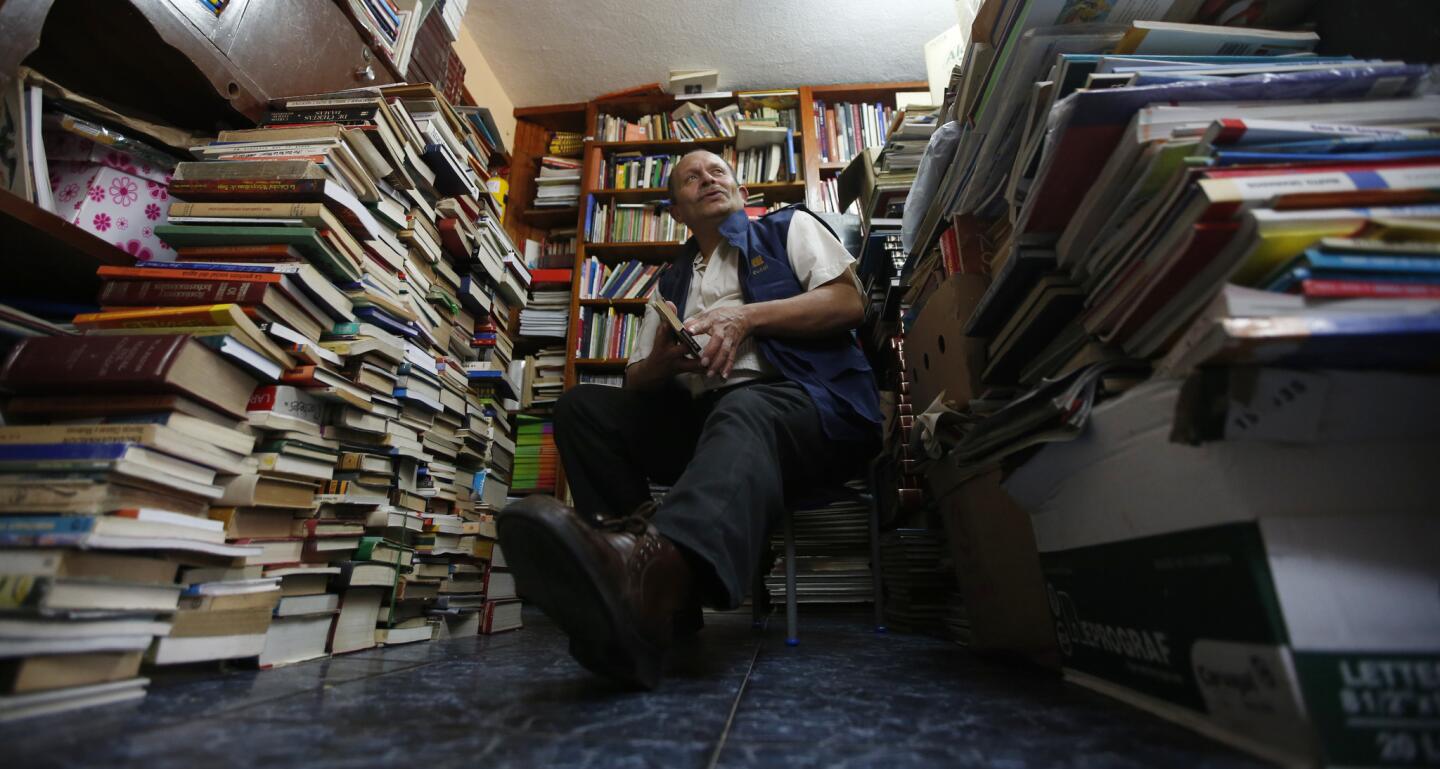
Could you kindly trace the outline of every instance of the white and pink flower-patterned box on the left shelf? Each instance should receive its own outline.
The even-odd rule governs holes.
[[[58,213],[135,259],[174,259],[156,236],[168,220],[170,173],[73,135],[46,138]]]

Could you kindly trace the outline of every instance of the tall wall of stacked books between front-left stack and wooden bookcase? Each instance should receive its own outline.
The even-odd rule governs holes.
[[[258,472],[216,513],[262,543],[253,565],[279,580],[262,664],[429,639],[441,618],[480,611],[442,598],[480,582],[464,527],[481,514],[477,474],[508,474],[487,455],[514,396],[508,314],[528,279],[482,192],[474,122],[432,88],[272,108],[177,168],[163,233],[177,261],[104,275],[135,304],[230,300],[135,312],[233,325],[287,359],[251,402]],[[320,494],[297,507],[297,484]]]

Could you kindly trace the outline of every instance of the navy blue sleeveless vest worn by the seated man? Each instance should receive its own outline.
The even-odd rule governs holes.
[[[740,249],[740,291],[746,304],[786,300],[805,291],[785,251],[791,220],[799,210],[815,216],[805,206],[795,204],[756,222],[737,210],[720,225],[720,235]],[[815,219],[829,230],[829,225],[818,216]],[[694,274],[691,265],[698,252],[700,245],[691,238],[684,253],[660,276],[660,295],[675,302],[681,318],[685,317],[685,300],[690,297],[690,278]],[[809,393],[819,409],[827,436],[834,441],[873,441],[880,436],[880,393],[854,331],[837,331],[811,340],[755,340],[770,366]]]

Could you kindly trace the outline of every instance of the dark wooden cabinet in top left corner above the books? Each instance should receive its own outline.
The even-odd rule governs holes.
[[[276,96],[399,82],[347,0],[6,0],[0,79],[27,63],[81,94],[199,131]]]

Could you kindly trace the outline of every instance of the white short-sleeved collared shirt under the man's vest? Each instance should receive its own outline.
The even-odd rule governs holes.
[[[791,229],[785,236],[785,249],[791,256],[791,268],[795,271],[795,276],[801,285],[805,287],[805,291],[814,291],[848,272],[855,291],[864,297],[860,278],[851,269],[855,259],[825,229],[825,225],[814,216],[796,213],[791,219]],[[710,253],[710,259],[704,259],[701,253],[696,255],[694,272],[690,276],[690,294],[685,298],[685,317],[681,320],[690,320],[717,307],[739,307],[744,304],[744,294],[740,288],[739,261],[740,249],[730,245],[729,240],[721,240]],[[660,315],[654,310],[647,308],[645,318],[639,324],[635,350],[629,356],[631,366],[649,356],[658,327]],[[708,334],[697,334],[696,340],[703,347],[710,337]],[[740,348],[734,356],[734,366],[730,369],[727,379],[706,374],[677,374],[675,382],[690,390],[690,395],[698,396],[716,387],[773,376],[778,376],[778,372],[760,356],[755,337],[750,337],[740,343]]]

